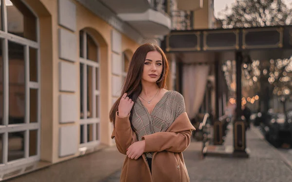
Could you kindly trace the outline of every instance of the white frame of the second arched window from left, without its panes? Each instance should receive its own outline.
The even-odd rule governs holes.
[[[79,32],[81,33],[81,31]],[[80,60],[80,64],[83,64],[83,100],[81,100],[81,98],[79,99],[80,101],[83,102],[83,118],[80,118],[80,128],[81,125],[83,125],[83,143],[80,143],[80,148],[83,147],[94,147],[100,144],[100,139],[101,139],[101,125],[100,125],[100,116],[101,116],[101,111],[100,111],[100,46],[98,44],[97,41],[95,41],[95,39],[93,38],[93,36],[87,32],[86,30],[82,30],[83,33],[83,57],[79,57]],[[86,34],[88,34],[89,36],[91,36],[91,39],[94,41],[95,45],[97,46],[97,62],[92,61],[90,59],[87,59],[87,49],[86,49],[86,45],[87,45],[87,38],[86,38]],[[91,66],[92,67],[92,118],[87,118],[87,66]],[[98,69],[98,85],[96,89],[96,71],[95,68]],[[79,72],[80,74],[80,72]],[[80,82],[81,83],[81,82]],[[81,92],[81,91],[80,91]],[[99,97],[98,102],[96,103],[96,97]],[[98,108],[99,108],[99,113],[98,116],[96,117],[96,104],[98,104]],[[81,114],[81,113],[80,113]],[[87,125],[88,124],[93,124],[93,140],[90,142],[87,142],[88,138],[87,138]],[[98,126],[99,131],[96,131],[96,125]],[[79,130],[80,131],[80,130]],[[81,133],[80,133],[81,134]],[[98,134],[98,140],[96,140],[96,134]]]

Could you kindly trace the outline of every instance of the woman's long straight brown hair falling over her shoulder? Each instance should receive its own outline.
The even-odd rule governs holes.
[[[155,44],[151,44],[151,43],[143,44],[133,54],[133,57],[129,63],[128,73],[127,73],[126,81],[123,84],[121,96],[119,97],[119,99],[115,101],[115,103],[110,109],[110,122],[113,123],[113,126],[115,124],[115,115],[116,115],[116,112],[118,111],[118,106],[124,93],[127,93],[127,96],[130,99],[132,99],[134,102],[136,102],[138,96],[140,95],[142,91],[141,79],[143,75],[144,62],[146,59],[146,55],[149,51],[158,51],[162,55],[163,70],[156,84],[159,86],[159,88],[165,87],[165,83],[166,83],[165,78],[167,77],[167,74],[168,74],[168,63],[167,63],[167,59],[163,50]],[[133,108],[131,110],[130,118],[132,116]]]

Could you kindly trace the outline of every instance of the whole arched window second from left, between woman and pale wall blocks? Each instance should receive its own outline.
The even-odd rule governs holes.
[[[100,141],[99,47],[86,30],[80,31],[80,144]]]

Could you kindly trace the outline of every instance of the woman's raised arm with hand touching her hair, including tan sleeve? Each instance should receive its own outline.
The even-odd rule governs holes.
[[[115,138],[119,152],[127,155],[127,149],[132,144],[133,131],[130,124],[130,112],[134,102],[125,93],[119,103],[119,111],[116,112],[115,126],[111,138]]]

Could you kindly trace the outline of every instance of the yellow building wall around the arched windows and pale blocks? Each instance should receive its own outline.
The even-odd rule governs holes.
[[[37,2],[36,2],[37,1]],[[73,1],[73,0],[72,0]],[[68,125],[79,126],[78,117],[76,121],[68,124],[59,124],[59,102],[58,97],[62,93],[59,91],[59,69],[58,64],[64,60],[58,56],[58,29],[66,29],[58,25],[58,5],[57,0],[26,0],[27,4],[37,13],[40,18],[40,50],[41,50],[41,160],[52,163],[70,159],[74,156],[58,157],[59,128]],[[111,27],[101,18],[95,16],[78,2],[76,4],[76,35],[79,40],[79,31],[86,28],[93,38],[100,45],[100,71],[101,71],[101,143],[111,145],[111,124],[109,122],[109,112],[111,107]],[[68,29],[66,29],[68,30]],[[79,42],[79,41],[78,41]],[[122,34],[122,51],[131,50],[134,52],[139,44]],[[76,56],[79,58],[79,43],[77,43]],[[79,92],[79,61],[73,63],[78,74],[77,89],[74,94],[77,96],[77,112],[80,111]],[[63,94],[65,94],[63,92]],[[79,112],[78,112],[79,113]],[[78,132],[80,130],[78,129]],[[80,133],[79,133],[80,134]],[[78,141],[79,144],[79,136]]]

